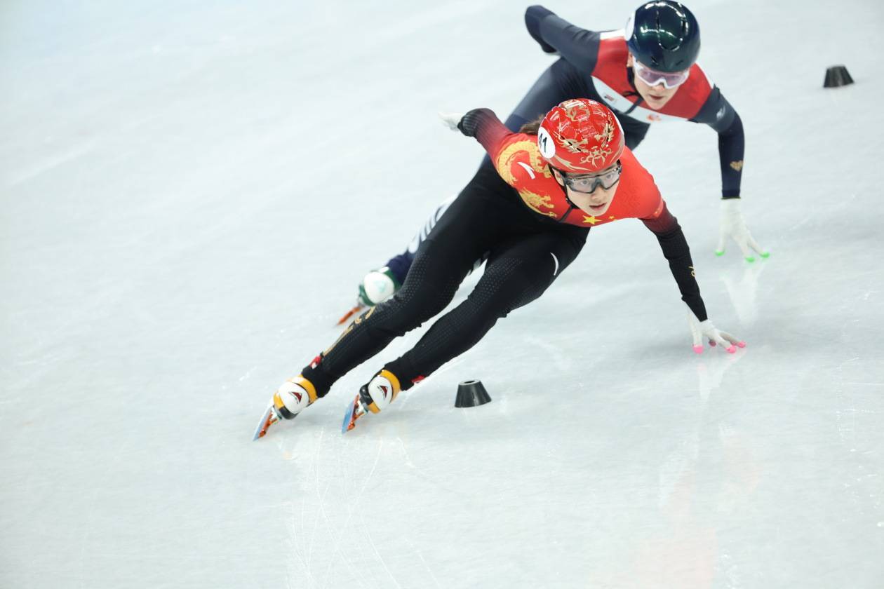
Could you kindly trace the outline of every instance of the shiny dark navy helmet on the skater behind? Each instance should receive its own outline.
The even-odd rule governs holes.
[[[654,0],[629,17],[626,44],[645,66],[658,72],[681,72],[697,61],[700,27],[684,4]]]

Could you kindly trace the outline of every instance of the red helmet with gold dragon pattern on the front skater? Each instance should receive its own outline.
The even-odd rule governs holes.
[[[553,107],[537,130],[540,155],[557,170],[591,174],[623,153],[620,121],[604,104],[575,98]]]

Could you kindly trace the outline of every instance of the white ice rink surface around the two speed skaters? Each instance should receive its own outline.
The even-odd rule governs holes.
[[[636,4],[546,6],[605,30]],[[353,432],[423,329],[252,442],[474,173],[437,111],[504,118],[552,63],[527,5],[0,6],[0,587],[884,586],[877,0],[688,4],[771,257],[713,255],[711,129],[653,126],[636,155],[747,348],[691,351],[624,221]],[[856,84],[823,89],[834,64]],[[454,408],[468,379],[491,404]]]

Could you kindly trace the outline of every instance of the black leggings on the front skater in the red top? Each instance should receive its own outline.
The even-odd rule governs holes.
[[[324,396],[331,384],[420,327],[451,302],[464,276],[489,252],[469,297],[443,315],[414,348],[384,367],[402,389],[473,347],[502,317],[538,298],[583,248],[589,229],[530,211],[484,163],[421,244],[396,295],[356,319],[302,374]]]

